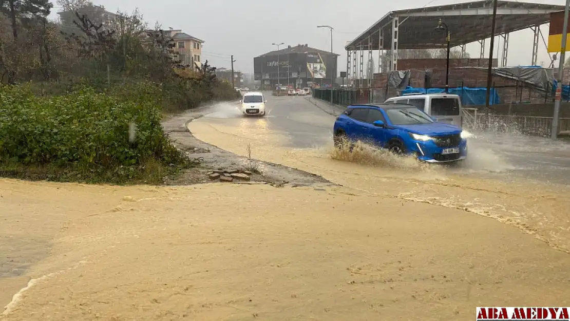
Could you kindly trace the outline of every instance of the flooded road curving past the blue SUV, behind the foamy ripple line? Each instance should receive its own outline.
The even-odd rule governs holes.
[[[243,154],[251,144],[256,159],[319,174],[359,192],[492,217],[570,251],[568,185],[560,184],[568,182],[563,143],[477,137],[470,141],[470,160],[457,167],[420,164],[367,147],[339,155],[332,148],[333,116],[303,97],[269,97],[268,107],[270,116],[262,118],[222,107],[189,128],[198,139],[228,151]],[[548,155],[551,166],[545,168]]]

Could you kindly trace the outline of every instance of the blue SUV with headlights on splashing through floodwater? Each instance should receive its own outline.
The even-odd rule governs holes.
[[[454,162],[467,156],[461,128],[437,123],[408,104],[351,105],[335,121],[335,145],[364,141],[426,162]]]

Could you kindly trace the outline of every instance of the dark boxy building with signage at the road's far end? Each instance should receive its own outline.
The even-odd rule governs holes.
[[[309,47],[307,44],[287,46],[254,58],[255,80],[264,89],[281,84],[293,88],[329,87],[337,78],[339,55]]]

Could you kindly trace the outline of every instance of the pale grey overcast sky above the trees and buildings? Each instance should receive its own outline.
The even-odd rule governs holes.
[[[55,2],[55,0],[53,1]],[[333,32],[333,50],[341,54],[339,71],[345,69],[347,41],[354,39],[388,11],[422,6],[447,5],[466,1],[454,0],[328,0],[328,1],[267,1],[267,0],[93,0],[108,11],[129,11],[139,8],[150,26],[160,22],[164,29],[182,29],[205,41],[203,58],[216,67],[234,67],[242,72],[253,72],[253,58],[275,50],[271,43],[307,43],[310,47],[330,50],[328,29],[317,25],[330,25]],[[563,0],[532,0],[528,2],[564,5]],[[55,8],[54,11],[58,11]],[[548,40],[548,26],[541,27]],[[488,41],[486,42],[488,46]],[[499,42],[495,52],[502,48]],[[522,30],[510,35],[508,65],[528,65],[532,56],[532,31]],[[479,57],[479,44],[467,46],[471,57]],[[488,48],[486,50],[488,55]],[[366,56],[366,54],[365,54]],[[374,54],[377,56],[377,54]],[[496,58],[496,56],[495,56]],[[546,48],[540,40],[538,63],[550,62]]]

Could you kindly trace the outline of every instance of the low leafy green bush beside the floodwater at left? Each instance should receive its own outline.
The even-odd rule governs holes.
[[[152,83],[118,87],[111,95],[85,87],[35,96],[27,85],[2,86],[0,164],[112,172],[116,182],[135,178],[148,162],[182,164],[184,157],[162,132],[161,99]]]

